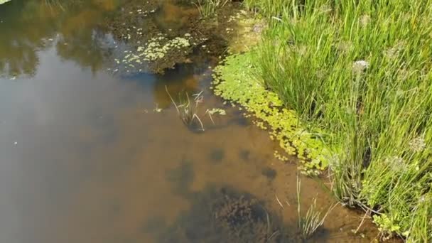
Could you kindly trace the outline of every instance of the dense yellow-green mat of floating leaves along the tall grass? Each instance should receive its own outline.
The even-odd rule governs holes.
[[[254,68],[252,52],[230,55],[215,68],[215,95],[244,107],[246,117],[257,118],[254,124],[268,130],[271,140],[279,141],[288,155],[298,157],[302,173],[320,173],[328,166],[328,149],[323,141],[303,129],[296,112],[286,109],[276,93],[266,90],[263,82],[257,80],[259,70]],[[288,161],[277,151],[275,156]]]

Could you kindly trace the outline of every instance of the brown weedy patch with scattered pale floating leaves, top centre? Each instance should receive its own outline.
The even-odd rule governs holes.
[[[131,0],[121,5],[100,26],[117,41],[111,59],[117,60],[109,67],[116,70],[112,73],[163,73],[176,64],[202,61],[202,55],[192,55],[194,50],[221,55],[225,44],[237,37],[237,21],[232,20],[245,12],[229,0],[202,0],[201,4],[204,1],[208,1],[205,6],[218,6],[216,18],[200,19],[193,1]]]

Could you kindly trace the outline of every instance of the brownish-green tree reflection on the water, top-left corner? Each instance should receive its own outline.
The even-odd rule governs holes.
[[[52,45],[65,60],[100,70],[103,49],[99,43],[103,38],[93,28],[118,2],[18,0],[1,6],[1,74],[34,76],[39,64],[37,52]]]

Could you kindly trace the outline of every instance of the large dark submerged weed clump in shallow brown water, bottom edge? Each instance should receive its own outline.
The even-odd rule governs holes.
[[[158,218],[144,225],[156,242],[294,242],[281,219],[249,193],[210,185],[184,196],[190,210],[172,225]]]

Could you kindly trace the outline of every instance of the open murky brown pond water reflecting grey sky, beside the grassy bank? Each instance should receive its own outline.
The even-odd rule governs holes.
[[[298,242],[296,166],[277,161],[268,134],[212,95],[214,58],[195,53],[200,63],[164,75],[112,75],[114,39],[97,26],[122,3],[70,2],[0,6],[0,242],[255,242],[217,227],[215,202],[242,195],[265,208],[273,239]],[[166,2],[158,23],[181,28],[157,16],[194,10]],[[203,91],[204,132],[178,119],[166,86]],[[212,108],[227,115],[212,124]],[[314,197],[323,209],[334,203],[311,178],[302,195],[303,207]],[[310,241],[370,242],[368,222],[365,235],[351,233],[361,217],[336,207]]]

